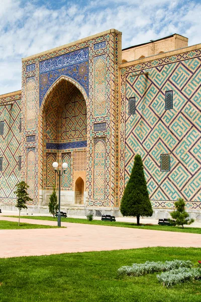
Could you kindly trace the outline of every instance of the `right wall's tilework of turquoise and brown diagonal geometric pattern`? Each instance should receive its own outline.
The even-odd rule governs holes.
[[[185,58],[193,54],[185,53]],[[178,57],[182,59],[183,56]],[[174,60],[175,56],[170,59]],[[139,153],[143,158],[150,198],[158,202],[174,201],[179,197],[189,202],[201,201],[201,161],[197,156],[201,152],[201,90],[197,85],[200,81],[200,61],[200,57],[196,57],[143,69],[148,71],[148,75],[139,77],[132,77],[133,73],[128,70],[122,78],[122,84],[126,80],[125,184],[134,156]],[[149,66],[154,64],[157,65],[157,62],[149,62]],[[135,68],[131,67],[132,70]],[[165,92],[170,90],[173,91],[173,109],[165,111]],[[129,117],[130,97],[136,97],[136,115]],[[171,154],[170,171],[160,171],[162,153]],[[165,206],[172,207],[168,202],[162,207]]]

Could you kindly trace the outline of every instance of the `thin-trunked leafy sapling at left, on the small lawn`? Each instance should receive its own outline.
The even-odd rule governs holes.
[[[28,201],[32,201],[33,199],[29,197],[29,193],[27,189],[29,188],[28,184],[25,181],[21,181],[16,185],[17,189],[14,192],[17,196],[16,207],[19,209],[19,221],[18,225],[20,225],[20,212],[22,209],[27,209],[26,203]]]

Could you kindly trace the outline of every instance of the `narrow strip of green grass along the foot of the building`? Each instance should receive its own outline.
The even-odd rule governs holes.
[[[18,217],[18,216],[9,216]],[[56,221],[57,218],[51,216],[22,216],[21,218],[29,219],[40,219],[40,220],[51,220]],[[145,224],[137,226],[136,223],[132,222],[118,222],[118,221],[102,221],[102,220],[92,220],[88,221],[83,218],[61,218],[63,222],[73,222],[73,223],[85,223],[85,224],[98,224],[98,225],[108,225],[108,226],[120,226],[122,228],[135,228],[135,229],[145,229],[145,230],[155,230],[155,231],[168,231],[168,232],[181,232],[181,233],[195,233],[201,234],[201,228],[189,228],[184,226],[184,229],[180,226],[169,226],[169,225],[158,225],[158,224]]]

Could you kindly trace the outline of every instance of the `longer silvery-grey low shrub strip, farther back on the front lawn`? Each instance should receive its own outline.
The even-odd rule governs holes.
[[[141,276],[154,272],[169,271],[179,267],[191,267],[189,260],[173,260],[165,262],[146,261],[145,263],[133,263],[132,266],[122,266],[118,269],[118,275]]]

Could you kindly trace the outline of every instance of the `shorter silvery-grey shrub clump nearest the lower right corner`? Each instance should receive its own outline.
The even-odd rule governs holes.
[[[180,267],[169,272],[161,273],[156,276],[163,286],[172,286],[185,281],[192,281],[201,278],[201,268]]]

